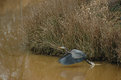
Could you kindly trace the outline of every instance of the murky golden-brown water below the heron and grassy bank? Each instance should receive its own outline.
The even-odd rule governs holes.
[[[91,69],[86,62],[63,66],[56,57],[1,54],[0,80],[121,80],[121,68],[100,64]]]

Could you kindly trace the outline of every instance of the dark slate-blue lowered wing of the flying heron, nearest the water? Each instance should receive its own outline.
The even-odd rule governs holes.
[[[72,54],[67,54],[66,56],[59,59],[59,63],[64,65],[71,65],[83,61],[84,58],[74,59]]]

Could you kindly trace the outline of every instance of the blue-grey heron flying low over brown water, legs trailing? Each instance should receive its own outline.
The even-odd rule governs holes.
[[[71,65],[75,63],[79,63],[82,61],[86,61],[90,65],[95,65],[93,62],[89,61],[86,57],[86,54],[78,49],[73,49],[71,51],[68,51],[66,47],[59,47],[61,49],[64,49],[66,51],[66,54],[59,59],[59,63],[63,65]]]

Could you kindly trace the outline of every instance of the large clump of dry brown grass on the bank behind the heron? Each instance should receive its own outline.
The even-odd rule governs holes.
[[[46,54],[63,45],[95,60],[120,62],[121,14],[108,5],[107,0],[43,1],[26,22],[29,48]]]

